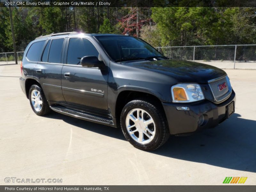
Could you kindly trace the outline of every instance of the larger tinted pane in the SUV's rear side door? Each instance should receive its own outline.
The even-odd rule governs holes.
[[[64,42],[64,38],[52,39],[52,44],[50,47],[50,52],[48,57],[49,63],[60,63],[63,42]]]

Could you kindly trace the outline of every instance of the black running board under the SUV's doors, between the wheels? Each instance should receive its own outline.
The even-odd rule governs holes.
[[[96,115],[92,115],[89,113],[85,113],[82,111],[76,111],[73,109],[69,109],[69,108],[63,108],[63,107],[59,107],[59,106],[50,106],[50,108],[53,111],[56,111],[58,113],[64,114],[64,115],[68,115],[68,116],[72,116],[72,117],[76,117],[79,119],[84,119],[87,121],[92,121],[92,122],[99,122],[102,124],[108,124],[108,125],[114,125],[113,121],[104,117],[100,117],[100,116],[96,116]]]

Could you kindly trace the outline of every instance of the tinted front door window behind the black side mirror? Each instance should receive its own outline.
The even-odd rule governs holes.
[[[80,64],[84,56],[99,56],[99,52],[94,45],[84,38],[70,38],[68,43],[67,64]]]

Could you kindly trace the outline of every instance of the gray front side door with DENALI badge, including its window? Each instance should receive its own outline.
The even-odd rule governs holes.
[[[86,38],[70,37],[62,68],[62,93],[67,104],[107,113],[108,72],[99,68],[82,67],[84,56],[99,57],[99,52]]]

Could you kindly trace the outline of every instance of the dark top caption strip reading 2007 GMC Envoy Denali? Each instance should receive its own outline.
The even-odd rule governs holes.
[[[256,0],[10,0],[13,7],[256,7]],[[0,0],[0,7],[8,0]],[[28,2],[28,4],[27,4]],[[56,3],[62,3],[56,4]],[[73,3],[72,3],[73,2]],[[100,3],[101,2],[101,3]],[[43,3],[43,4],[42,4]],[[46,3],[46,4],[44,4]],[[76,4],[79,3],[79,4]],[[83,3],[83,4],[82,4]]]

